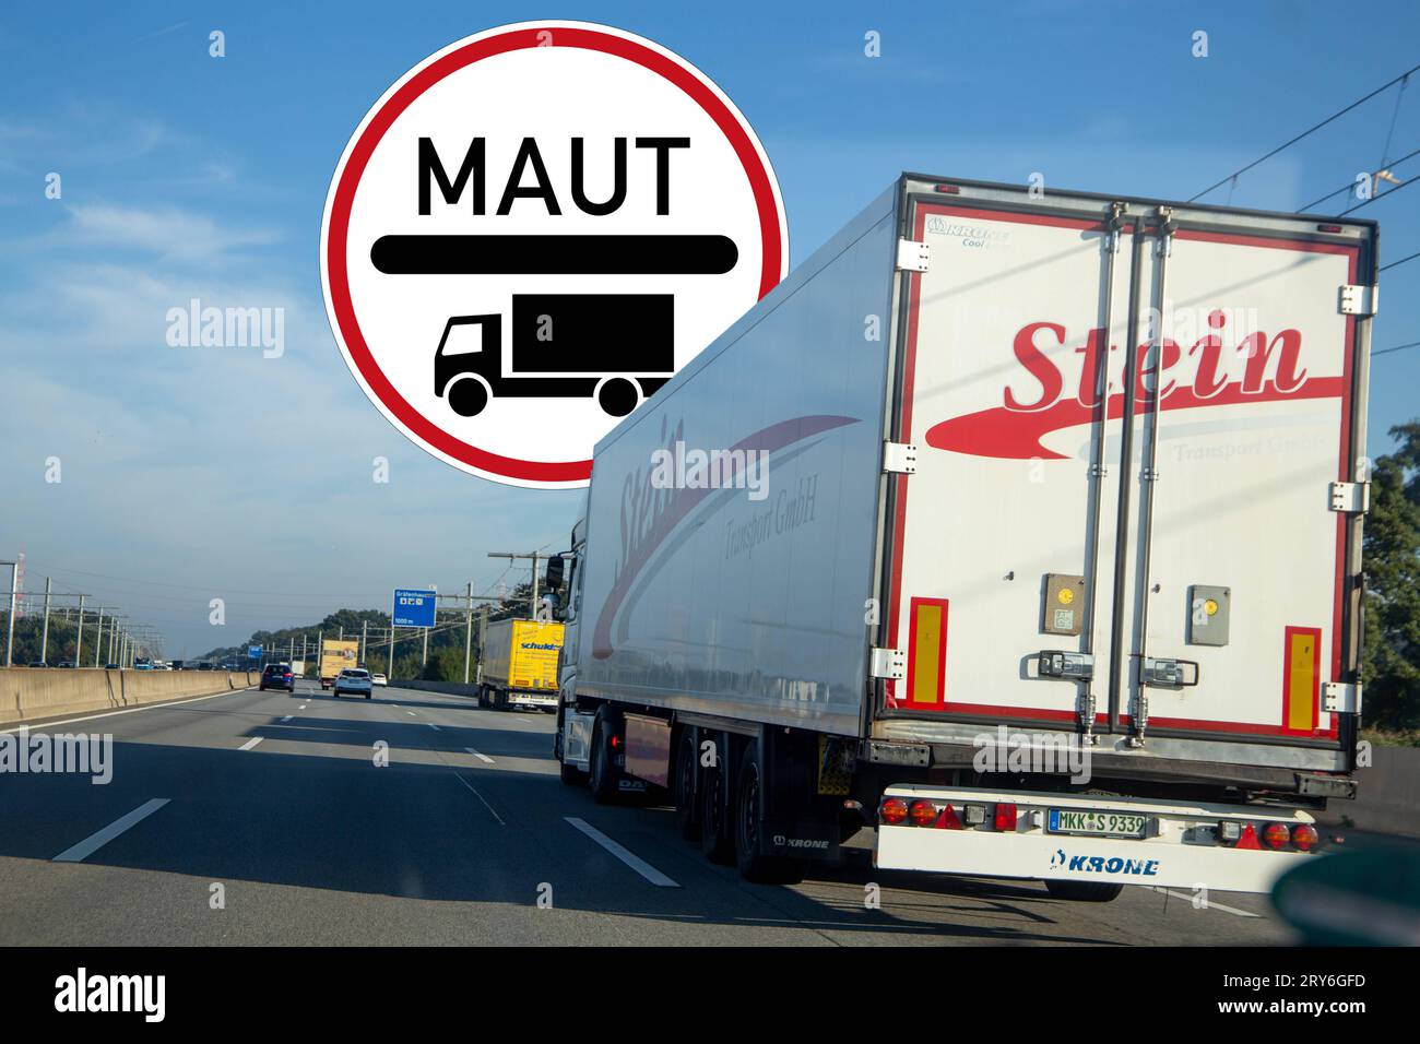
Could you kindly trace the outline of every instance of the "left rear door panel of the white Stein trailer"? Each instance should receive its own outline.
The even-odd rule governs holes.
[[[1127,334],[1133,227],[1109,203],[1003,190],[909,196],[905,232],[929,261],[902,317],[895,437],[917,463],[889,497],[906,678],[883,713],[1108,727],[1079,672],[1108,662],[1119,447],[1100,382]],[[1042,649],[1075,673],[1041,678]]]

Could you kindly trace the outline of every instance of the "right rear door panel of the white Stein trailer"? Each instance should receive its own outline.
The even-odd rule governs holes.
[[[1116,730],[1136,744],[1342,741],[1326,689],[1356,680],[1343,642],[1372,230],[1326,227],[1169,207],[1146,217],[1149,347],[1109,686]]]

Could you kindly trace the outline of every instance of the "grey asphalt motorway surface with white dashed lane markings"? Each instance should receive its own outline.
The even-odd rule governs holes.
[[[457,696],[337,700],[302,682],[61,720],[114,736],[112,781],[0,774],[0,943],[1292,940],[1262,896],[1071,903],[1031,882],[875,874],[866,835],[802,885],[750,885],[682,842],[669,808],[564,787],[551,714]]]

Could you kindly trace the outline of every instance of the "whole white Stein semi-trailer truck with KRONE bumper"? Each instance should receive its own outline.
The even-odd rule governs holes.
[[[564,781],[758,881],[863,827],[880,868],[1095,901],[1321,858],[1376,247],[902,176],[596,446]]]

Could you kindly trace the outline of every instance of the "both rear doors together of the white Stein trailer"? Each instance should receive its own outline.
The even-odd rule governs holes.
[[[906,186],[880,714],[1336,751],[1373,227]]]

